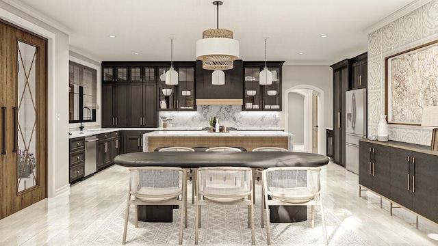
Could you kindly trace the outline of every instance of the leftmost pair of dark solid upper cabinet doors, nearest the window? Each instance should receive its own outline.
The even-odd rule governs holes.
[[[129,85],[107,83],[102,85],[102,127],[129,126]]]

